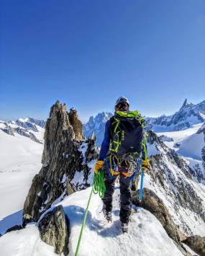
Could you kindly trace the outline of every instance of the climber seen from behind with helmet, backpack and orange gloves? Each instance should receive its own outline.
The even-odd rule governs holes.
[[[114,181],[119,176],[120,213],[122,231],[127,232],[131,206],[131,183],[136,177],[137,164],[141,161],[143,170],[149,169],[147,146],[144,136],[145,120],[138,111],[129,111],[129,101],[119,97],[115,103],[114,116],[105,125],[104,141],[95,173],[104,170],[106,191],[103,200],[103,213],[107,221],[112,221],[112,195]],[[142,159],[142,160],[141,160]]]

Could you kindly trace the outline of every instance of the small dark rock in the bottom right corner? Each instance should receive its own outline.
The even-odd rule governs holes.
[[[194,252],[200,256],[205,256],[205,237],[192,236],[183,240]]]

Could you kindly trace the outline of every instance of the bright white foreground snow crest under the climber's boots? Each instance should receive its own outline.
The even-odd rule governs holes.
[[[83,213],[90,193],[91,187],[73,193],[59,203],[63,205],[64,211],[70,219],[70,256],[74,255],[76,251]],[[104,221],[101,208],[99,195],[92,195],[79,256],[182,255],[158,219],[142,208],[138,208],[137,213],[132,215],[129,233],[122,234],[119,222],[119,187],[116,187],[114,193],[112,224],[107,224]],[[40,241],[35,224],[29,224],[26,229],[12,231],[1,237],[0,252],[1,256],[55,255],[47,244]]]

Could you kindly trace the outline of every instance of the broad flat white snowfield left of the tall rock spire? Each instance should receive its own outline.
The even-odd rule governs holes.
[[[39,138],[42,134],[38,134]],[[0,209],[1,220],[23,208],[32,178],[41,167],[43,145],[1,130],[0,144],[0,202],[4,205]]]

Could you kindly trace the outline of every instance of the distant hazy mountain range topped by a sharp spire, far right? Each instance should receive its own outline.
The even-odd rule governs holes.
[[[205,100],[199,104],[183,102],[182,107],[173,115],[162,115],[159,118],[146,118],[147,124],[155,132],[181,131],[205,121]]]

